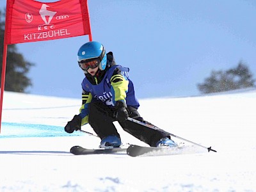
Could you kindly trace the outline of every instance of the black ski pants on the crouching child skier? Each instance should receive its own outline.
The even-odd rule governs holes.
[[[129,111],[129,117],[150,124],[149,122],[143,120],[136,108],[132,108],[131,106],[128,106],[127,108]],[[89,124],[92,126],[93,130],[100,137],[100,139],[111,135],[115,135],[120,138],[120,135],[113,124],[113,122],[116,121],[114,113],[115,109],[109,108],[102,102],[90,103]],[[129,132],[129,134],[147,143],[151,147],[156,147],[157,141],[159,141],[161,138],[168,137],[168,134],[150,129],[140,124],[136,124],[129,120],[118,123],[121,125],[124,131]]]

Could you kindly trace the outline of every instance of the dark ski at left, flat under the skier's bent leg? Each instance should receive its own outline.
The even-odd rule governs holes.
[[[81,146],[74,146],[70,148],[70,153],[74,155],[93,155],[93,154],[116,154],[118,152],[125,152],[127,148],[83,148]]]

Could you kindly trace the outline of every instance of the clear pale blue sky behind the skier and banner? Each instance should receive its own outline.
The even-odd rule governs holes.
[[[0,6],[6,6],[1,0]],[[256,1],[88,0],[93,40],[130,68],[138,98],[198,95],[212,70],[244,61],[256,79]],[[35,63],[29,93],[81,97],[88,36],[18,44]]]

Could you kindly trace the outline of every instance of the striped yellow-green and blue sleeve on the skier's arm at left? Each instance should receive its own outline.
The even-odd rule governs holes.
[[[89,106],[88,105],[90,104],[91,101],[92,101],[92,93],[86,92],[83,90],[82,106],[79,109],[79,116],[81,116],[81,118],[82,118],[81,125],[88,124],[88,115],[89,115],[89,111],[88,111]]]

